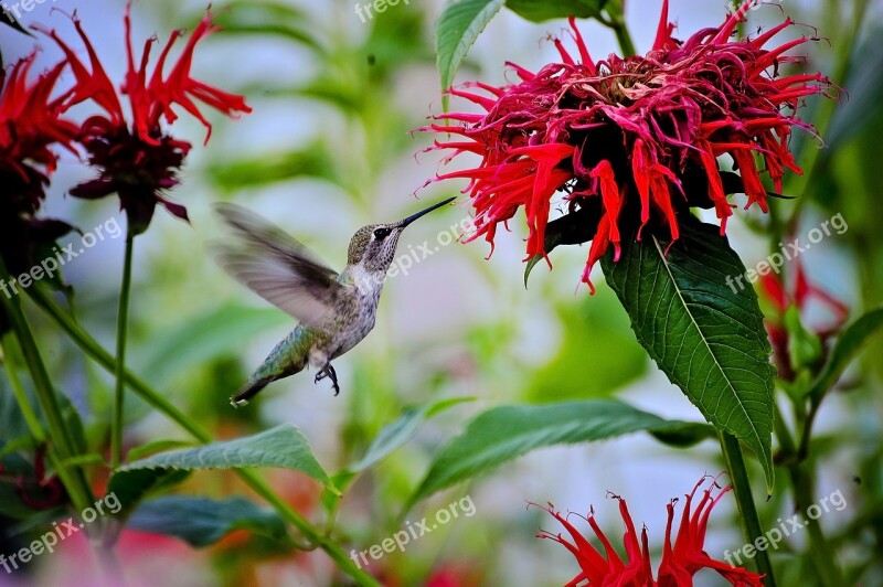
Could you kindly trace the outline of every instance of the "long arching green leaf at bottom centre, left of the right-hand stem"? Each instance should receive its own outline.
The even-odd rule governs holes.
[[[470,421],[462,435],[436,455],[407,509],[436,491],[489,472],[538,448],[605,440],[683,424],[610,399],[497,407]]]

